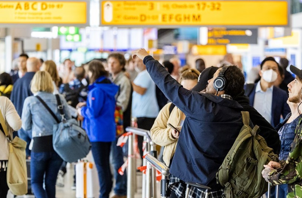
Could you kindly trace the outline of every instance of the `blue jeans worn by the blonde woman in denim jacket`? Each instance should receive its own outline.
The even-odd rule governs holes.
[[[31,189],[37,198],[56,197],[56,178],[62,162],[55,151],[31,152]]]

